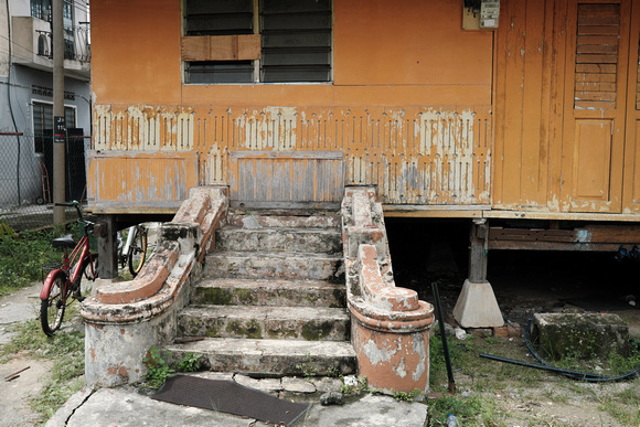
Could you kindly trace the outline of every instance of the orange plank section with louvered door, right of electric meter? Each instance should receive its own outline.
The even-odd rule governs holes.
[[[495,204],[640,213],[640,2],[510,0],[502,12]]]

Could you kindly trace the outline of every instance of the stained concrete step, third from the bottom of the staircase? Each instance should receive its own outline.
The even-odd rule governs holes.
[[[346,307],[344,285],[323,280],[217,278],[193,288],[194,305]]]

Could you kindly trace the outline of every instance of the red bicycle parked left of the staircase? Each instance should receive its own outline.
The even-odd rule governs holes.
[[[94,223],[83,218],[79,203],[55,203],[56,206],[75,207],[78,214],[78,223],[84,225],[84,235],[76,244],[71,234],[54,238],[53,247],[62,247],[62,265],[52,269],[40,291],[40,322],[42,330],[47,335],[60,329],[64,317],[65,308],[74,299],[83,301],[85,297],[82,293],[82,278],[85,276],[88,280],[95,280],[97,277],[98,255],[89,250],[89,234],[94,231]],[[68,249],[73,249],[71,255]]]

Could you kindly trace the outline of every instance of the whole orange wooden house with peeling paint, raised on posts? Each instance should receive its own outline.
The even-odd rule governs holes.
[[[640,242],[639,34],[631,0],[94,2],[89,207],[375,185],[385,215],[473,218],[477,253],[615,250]]]

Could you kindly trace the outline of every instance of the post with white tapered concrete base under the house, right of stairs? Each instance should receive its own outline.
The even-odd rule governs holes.
[[[462,328],[499,328],[504,324],[493,288],[487,280],[489,224],[473,220],[470,235],[469,278],[454,308],[454,318]]]

